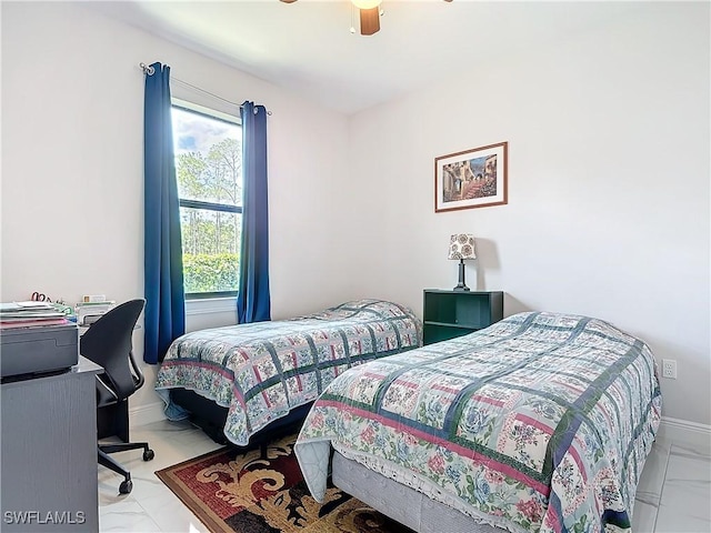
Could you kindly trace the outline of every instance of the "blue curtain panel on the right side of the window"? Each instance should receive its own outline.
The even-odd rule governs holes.
[[[240,324],[271,319],[267,109],[253,102],[242,104],[242,248],[237,294]]]

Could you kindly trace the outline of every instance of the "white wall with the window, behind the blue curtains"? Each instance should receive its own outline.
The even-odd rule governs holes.
[[[332,253],[333,169],[348,158],[347,119],[288,91],[79,3],[2,2],[0,301],[39,290],[78,301],[143,294],[143,74],[171,74],[233,102],[253,100],[268,120],[272,316],[343,298]],[[173,95],[216,105],[179,84]],[[224,111],[229,109],[222,108]],[[234,112],[234,110],[231,110]],[[304,134],[308,128],[309,134]],[[342,213],[348,217],[348,213]],[[188,316],[188,329],[234,323],[234,312]],[[202,310],[203,311],[203,310]],[[142,331],[134,335],[142,353]],[[147,368],[149,380],[154,366]],[[150,386],[132,406],[157,402]]]

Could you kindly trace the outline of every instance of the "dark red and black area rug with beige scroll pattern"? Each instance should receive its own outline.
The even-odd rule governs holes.
[[[266,449],[222,449],[156,475],[213,533],[410,533],[361,501],[329,486],[309,494],[293,454],[296,435]]]

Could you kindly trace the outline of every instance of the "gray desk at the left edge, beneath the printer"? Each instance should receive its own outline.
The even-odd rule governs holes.
[[[0,500],[3,532],[97,532],[96,374],[68,372],[3,383]]]

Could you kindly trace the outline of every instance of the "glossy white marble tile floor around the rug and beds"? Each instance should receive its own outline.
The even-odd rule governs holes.
[[[208,532],[156,476],[157,470],[221,447],[188,422],[161,421],[134,428],[132,441],[148,441],[156,459],[140,451],[114,454],[131,471],[133,491],[119,495],[121,476],[99,466],[101,532]],[[711,449],[658,441],[647,460],[634,505],[634,533],[711,532]]]

